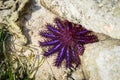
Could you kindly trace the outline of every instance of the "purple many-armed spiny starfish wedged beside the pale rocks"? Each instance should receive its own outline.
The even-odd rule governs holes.
[[[47,39],[43,42],[39,41],[40,46],[51,46],[43,55],[48,57],[58,53],[55,66],[61,66],[62,61],[65,60],[67,68],[73,65],[77,67],[80,64],[79,55],[84,52],[84,45],[97,42],[98,38],[79,24],[67,20],[61,21],[59,18],[55,18],[55,23],[58,28],[47,24],[47,31],[40,32],[40,35]]]

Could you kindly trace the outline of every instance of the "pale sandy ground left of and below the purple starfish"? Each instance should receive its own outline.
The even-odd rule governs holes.
[[[39,35],[39,31],[46,30],[46,24],[50,23],[55,25],[54,18],[56,15],[52,14],[44,7],[38,5],[38,3],[33,1],[31,6],[31,13],[27,14],[22,21],[24,26],[24,33],[29,41],[29,46],[34,49],[34,52],[39,56],[42,56],[44,49],[39,46],[38,41],[42,41],[43,37]],[[25,54],[28,54],[26,52]],[[44,58],[44,63],[39,67],[36,80],[72,80],[72,79],[84,79],[82,70],[78,67],[73,72],[66,69],[63,66],[57,68],[54,66],[54,59],[57,55],[52,55],[49,58]]]

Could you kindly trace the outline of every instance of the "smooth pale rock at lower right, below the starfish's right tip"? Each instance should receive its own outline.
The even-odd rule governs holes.
[[[82,68],[86,80],[119,80],[119,62],[120,40],[109,38],[86,45],[82,57]]]

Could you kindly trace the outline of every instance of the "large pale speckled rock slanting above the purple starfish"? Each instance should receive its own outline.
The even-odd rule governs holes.
[[[85,28],[120,39],[119,0],[40,0],[57,16],[82,24]]]

